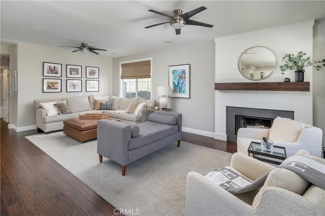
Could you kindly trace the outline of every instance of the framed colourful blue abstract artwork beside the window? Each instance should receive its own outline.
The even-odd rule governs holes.
[[[172,87],[172,94],[169,97],[190,98],[190,64],[169,66],[169,85]]]

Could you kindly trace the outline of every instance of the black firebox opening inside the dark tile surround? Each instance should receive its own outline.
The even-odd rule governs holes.
[[[274,118],[235,115],[235,136],[237,136],[237,131],[241,127],[269,129],[273,120]]]

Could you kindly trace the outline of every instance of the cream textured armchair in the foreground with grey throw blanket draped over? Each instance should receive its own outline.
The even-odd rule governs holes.
[[[325,164],[325,159],[317,160]],[[290,170],[275,168],[241,153],[233,155],[228,168],[251,180],[272,171],[261,189],[236,196],[207,177],[189,172],[186,215],[325,215],[325,191]]]

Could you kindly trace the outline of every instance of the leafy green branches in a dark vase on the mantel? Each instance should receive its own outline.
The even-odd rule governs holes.
[[[300,51],[297,55],[294,54],[286,54],[282,61],[285,61],[285,64],[280,66],[282,74],[284,74],[287,70],[296,70],[296,82],[303,82],[304,81],[304,68],[308,66],[315,67],[316,70],[319,70],[322,66],[325,67],[325,59],[313,61],[310,60],[310,57],[304,58],[306,53]],[[322,65],[318,65],[322,63]]]

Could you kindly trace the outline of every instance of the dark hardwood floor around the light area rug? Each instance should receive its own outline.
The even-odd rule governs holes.
[[[116,215],[115,207],[1,121],[1,215]],[[182,141],[234,153],[234,142],[183,133]]]

